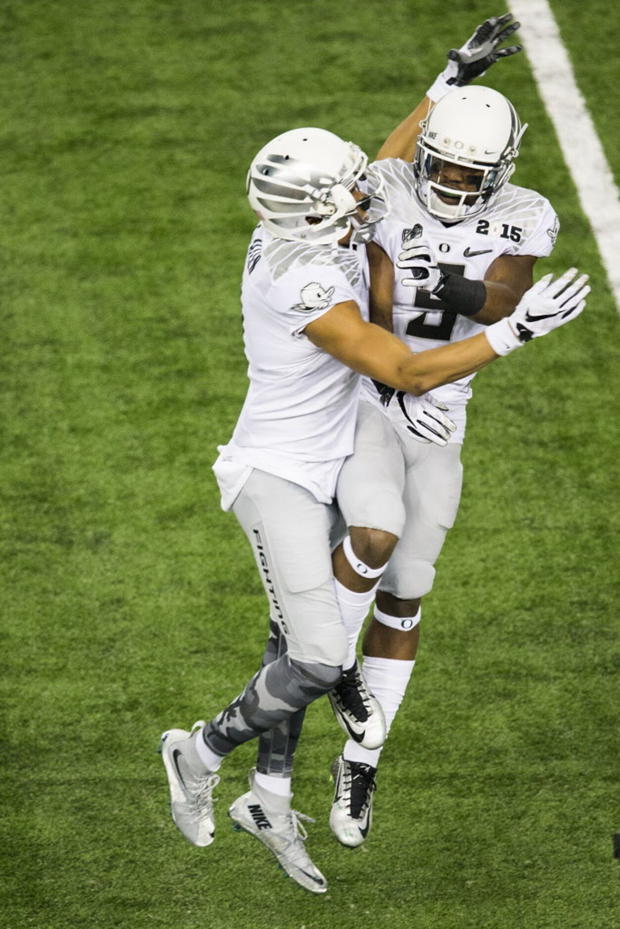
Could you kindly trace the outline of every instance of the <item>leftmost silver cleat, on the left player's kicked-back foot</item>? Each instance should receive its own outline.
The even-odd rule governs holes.
[[[162,736],[162,758],[170,786],[170,809],[178,830],[194,845],[210,845],[216,824],[213,790],[219,776],[207,770],[194,744],[200,720],[186,729],[168,729]]]

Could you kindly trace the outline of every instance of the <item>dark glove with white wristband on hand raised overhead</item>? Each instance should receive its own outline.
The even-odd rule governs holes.
[[[495,51],[497,46],[519,29],[521,23],[510,23],[511,19],[512,14],[507,13],[505,16],[494,16],[490,20],[484,20],[464,46],[451,48],[448,52],[448,64],[427,91],[427,97],[433,103],[437,103],[455,87],[463,87],[481,77],[498,59],[508,58],[520,52],[521,46],[509,46]]]

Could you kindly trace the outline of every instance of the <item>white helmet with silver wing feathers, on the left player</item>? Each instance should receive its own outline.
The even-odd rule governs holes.
[[[324,245],[352,228],[352,242],[370,242],[388,209],[383,179],[367,164],[357,145],[332,132],[292,129],[258,152],[247,173],[248,200],[278,239]],[[358,181],[361,201],[351,192]]]

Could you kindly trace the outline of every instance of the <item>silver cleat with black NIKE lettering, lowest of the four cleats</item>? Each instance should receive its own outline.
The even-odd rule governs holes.
[[[285,797],[270,794],[254,782],[255,770],[250,771],[250,790],[231,805],[229,816],[236,831],[253,835],[269,848],[288,877],[311,894],[324,894],[327,882],[312,864],[306,851],[308,833],[302,820],[314,822],[309,816],[290,809]]]

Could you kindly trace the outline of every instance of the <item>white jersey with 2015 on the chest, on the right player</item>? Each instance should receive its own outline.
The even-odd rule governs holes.
[[[385,178],[390,212],[376,227],[375,242],[394,265],[402,252],[402,242],[420,224],[446,271],[481,281],[499,255],[550,255],[560,223],[551,204],[534,190],[506,184],[491,206],[479,216],[444,225],[420,203],[414,188],[414,166],[401,159],[386,158],[373,167]],[[413,351],[424,351],[467,339],[484,332],[485,326],[466,316],[442,312],[442,301],[416,287],[404,287],[406,271],[395,268],[394,333]],[[471,374],[454,384],[432,391],[433,397],[450,408],[457,430],[452,441],[462,442],[465,434],[465,407],[471,397]],[[364,378],[364,396],[377,401],[376,389]]]

